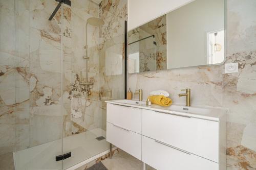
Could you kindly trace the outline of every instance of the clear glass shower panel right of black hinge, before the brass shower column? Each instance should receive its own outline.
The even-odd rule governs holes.
[[[124,98],[124,19],[104,3],[63,6],[63,169],[108,152],[104,101]]]

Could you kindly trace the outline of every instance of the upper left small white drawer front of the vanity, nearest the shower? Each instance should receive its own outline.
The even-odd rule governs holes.
[[[141,134],[142,110],[114,104],[107,104],[106,122]]]

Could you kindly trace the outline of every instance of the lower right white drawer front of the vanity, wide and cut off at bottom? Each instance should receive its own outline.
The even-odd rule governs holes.
[[[142,136],[142,161],[160,170],[218,170],[219,164]]]

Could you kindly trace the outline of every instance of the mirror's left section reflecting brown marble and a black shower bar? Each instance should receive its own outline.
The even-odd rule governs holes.
[[[128,72],[166,69],[166,15],[128,33]]]

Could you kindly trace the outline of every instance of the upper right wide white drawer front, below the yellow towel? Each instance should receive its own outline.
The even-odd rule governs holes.
[[[142,135],[219,162],[219,123],[142,111]]]

